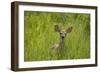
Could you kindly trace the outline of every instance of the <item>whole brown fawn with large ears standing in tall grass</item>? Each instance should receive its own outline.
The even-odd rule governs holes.
[[[54,51],[56,53],[59,54],[59,51],[61,51],[60,49],[63,49],[64,48],[64,38],[66,37],[66,35],[68,33],[70,33],[72,31],[72,27],[69,27],[65,30],[62,30],[60,26],[58,25],[55,25],[55,31],[59,33],[60,35],[60,43],[59,44],[54,44],[52,46],[52,48],[54,49]]]

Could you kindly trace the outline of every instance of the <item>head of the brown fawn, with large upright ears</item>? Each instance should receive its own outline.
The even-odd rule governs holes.
[[[69,27],[67,29],[61,29],[59,25],[55,25],[55,31],[59,32],[60,37],[64,39],[66,35],[72,31],[72,27]]]

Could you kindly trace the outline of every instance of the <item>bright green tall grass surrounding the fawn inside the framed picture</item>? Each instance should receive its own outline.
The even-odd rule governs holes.
[[[54,26],[73,27],[58,56],[51,49],[60,42]],[[90,58],[90,15],[60,12],[24,12],[24,61]]]

